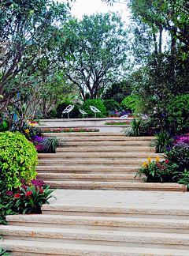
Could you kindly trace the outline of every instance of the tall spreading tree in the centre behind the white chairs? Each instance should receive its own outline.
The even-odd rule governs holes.
[[[85,100],[86,88],[91,99],[109,81],[116,81],[123,73],[127,61],[128,32],[115,13],[84,16],[82,21],[70,23],[79,36],[74,59],[62,58],[65,76],[80,88]]]

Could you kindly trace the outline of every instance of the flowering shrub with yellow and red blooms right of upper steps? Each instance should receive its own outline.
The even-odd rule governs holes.
[[[160,162],[158,156],[155,161],[151,161],[148,157],[148,162],[143,163],[143,167],[139,168],[135,177],[145,175],[142,179],[145,179],[146,182],[173,182],[174,171],[177,168],[177,164],[171,163],[167,159]]]

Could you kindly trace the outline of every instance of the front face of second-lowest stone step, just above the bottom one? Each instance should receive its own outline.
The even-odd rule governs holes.
[[[16,239],[17,240],[27,240],[27,241],[41,241],[46,243],[84,243],[84,244],[92,244],[92,245],[106,245],[106,246],[117,246],[117,247],[148,247],[148,248],[169,248],[169,249],[189,249],[189,242],[185,241],[184,244],[180,239],[145,239],[143,237],[119,237],[115,235],[84,235],[84,234],[72,234],[72,233],[65,233],[65,234],[46,234],[47,237],[41,234],[35,234],[33,232],[32,236],[28,234],[28,236],[24,236],[24,232],[21,235],[17,236],[17,232],[13,235],[3,235],[4,239]],[[152,242],[153,240],[153,242]]]

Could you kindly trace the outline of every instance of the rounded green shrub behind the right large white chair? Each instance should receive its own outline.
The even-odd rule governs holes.
[[[97,107],[99,111],[101,111],[101,113],[97,113],[96,117],[106,117],[106,107],[105,105],[102,103],[102,100],[86,100],[86,102],[83,103],[83,105],[81,106],[81,109],[83,111],[85,111],[87,113],[87,117],[91,118],[91,117],[95,117],[95,113],[93,111],[91,111],[90,109],[90,105]],[[80,114],[80,117],[83,117],[82,114]]]

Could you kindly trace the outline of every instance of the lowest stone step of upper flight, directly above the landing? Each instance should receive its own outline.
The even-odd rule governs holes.
[[[187,185],[178,183],[127,183],[127,182],[82,182],[82,181],[51,181],[46,185],[52,188],[73,190],[151,190],[151,191],[187,191]]]

